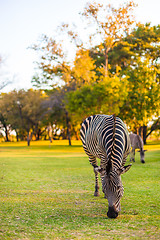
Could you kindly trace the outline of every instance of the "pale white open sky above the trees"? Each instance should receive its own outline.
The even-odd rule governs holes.
[[[2,91],[31,88],[36,72],[36,53],[29,47],[42,34],[54,35],[61,23],[81,23],[79,12],[92,0],[0,0],[0,56],[3,64],[0,76],[13,80]],[[96,0],[118,6],[124,0]],[[136,20],[160,24],[160,0],[135,0]]]

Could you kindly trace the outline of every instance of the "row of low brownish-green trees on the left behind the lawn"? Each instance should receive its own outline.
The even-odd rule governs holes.
[[[0,106],[0,128],[5,141],[10,141],[13,130],[17,141],[27,140],[28,146],[32,139],[52,141],[69,136],[70,119],[58,89],[48,93],[33,89],[3,93]]]

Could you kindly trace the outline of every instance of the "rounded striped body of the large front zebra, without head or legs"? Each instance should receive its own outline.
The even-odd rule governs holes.
[[[80,130],[84,150],[100,158],[105,166],[109,161],[114,168],[124,166],[130,151],[128,131],[115,115],[94,115],[86,118]]]

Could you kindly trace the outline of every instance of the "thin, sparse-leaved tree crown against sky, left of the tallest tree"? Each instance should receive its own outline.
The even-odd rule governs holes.
[[[32,80],[36,87],[43,88],[47,85],[47,88],[53,88],[70,82],[71,67],[66,61],[61,43],[43,35],[32,49],[40,54],[40,61],[37,63],[40,73]]]

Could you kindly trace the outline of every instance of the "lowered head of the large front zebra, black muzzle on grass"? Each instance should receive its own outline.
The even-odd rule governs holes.
[[[123,196],[123,185],[121,181],[121,174],[127,172],[131,167],[123,166],[119,169],[113,169],[112,161],[108,161],[106,173],[103,179],[103,192],[108,199],[108,212],[109,218],[116,218],[120,211],[120,199]]]

